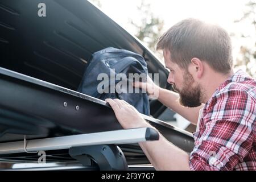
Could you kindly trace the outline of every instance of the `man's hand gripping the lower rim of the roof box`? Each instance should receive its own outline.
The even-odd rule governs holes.
[[[105,100],[109,103],[115,113],[115,117],[124,129],[131,129],[137,127],[147,127],[148,123],[142,118],[141,114],[126,101],[119,99]]]

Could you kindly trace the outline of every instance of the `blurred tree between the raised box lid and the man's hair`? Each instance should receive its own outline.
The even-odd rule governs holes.
[[[135,36],[150,48],[152,52],[158,54],[155,46],[159,36],[163,34],[164,21],[152,13],[150,3],[146,3],[144,0],[141,0],[137,10],[139,18],[130,20],[130,23],[133,24],[137,31]]]

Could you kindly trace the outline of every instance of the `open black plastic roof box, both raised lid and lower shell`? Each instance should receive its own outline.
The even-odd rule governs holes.
[[[38,16],[39,3],[46,3],[47,17]],[[64,87],[0,74],[0,142],[22,140],[24,134],[32,139],[121,129],[110,107],[71,91],[77,89],[90,55],[109,46],[143,55],[148,71],[160,74],[160,86],[170,88],[168,72],[156,57],[88,1],[0,0],[0,67]],[[150,106],[154,117],[165,108],[158,101]],[[192,137],[153,124],[175,145],[192,150]],[[147,162],[139,146],[122,148],[130,164]],[[60,159],[53,154],[51,161]],[[7,160],[36,161],[36,156],[27,157],[31,155],[7,155]]]

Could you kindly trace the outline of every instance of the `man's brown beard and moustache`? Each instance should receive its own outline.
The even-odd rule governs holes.
[[[176,88],[173,84],[174,90],[180,94],[179,102],[185,107],[198,107],[201,105],[201,86],[199,84],[195,85],[195,81],[191,74],[185,73],[184,86],[181,90]]]

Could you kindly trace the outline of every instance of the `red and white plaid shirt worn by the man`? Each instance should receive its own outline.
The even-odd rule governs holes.
[[[241,70],[205,104],[191,170],[256,170],[256,80]]]

